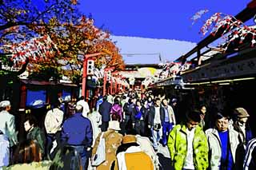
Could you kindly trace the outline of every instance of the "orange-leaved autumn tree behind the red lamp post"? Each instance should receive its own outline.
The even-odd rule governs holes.
[[[113,63],[116,63],[118,68],[124,65],[118,48],[110,41],[110,34],[96,28],[92,18],[82,16],[76,21],[64,23],[52,18],[49,25],[34,25],[31,28],[38,34],[50,36],[59,52],[54,60],[50,61],[51,68],[55,68],[59,74],[71,77],[73,81],[81,82],[82,64],[84,56],[88,53],[102,53],[95,57],[98,68]],[[44,67],[38,68],[45,69],[47,65],[45,63]],[[33,71],[36,73],[35,69]]]

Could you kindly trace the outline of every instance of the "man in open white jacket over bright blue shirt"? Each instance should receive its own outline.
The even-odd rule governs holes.
[[[210,169],[234,169],[238,132],[230,128],[229,117],[222,113],[215,115],[215,127],[206,130],[209,144]]]

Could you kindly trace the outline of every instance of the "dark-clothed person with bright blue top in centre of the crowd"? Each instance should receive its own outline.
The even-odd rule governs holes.
[[[136,101],[135,110],[136,112],[132,115],[133,128],[139,135],[145,136],[146,108],[142,105],[141,101]]]

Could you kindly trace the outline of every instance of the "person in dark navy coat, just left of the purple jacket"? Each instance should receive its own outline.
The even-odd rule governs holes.
[[[102,115],[102,132],[106,132],[106,129],[109,127],[111,107],[112,105],[107,101],[107,97],[103,97],[103,102],[99,105],[98,109],[98,112]]]

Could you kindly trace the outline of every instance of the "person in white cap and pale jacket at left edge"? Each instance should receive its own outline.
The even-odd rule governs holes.
[[[0,102],[0,168],[9,165],[10,147],[18,144],[14,116],[9,113],[10,101]],[[7,148],[6,148],[7,147]]]

